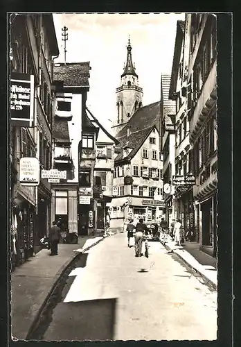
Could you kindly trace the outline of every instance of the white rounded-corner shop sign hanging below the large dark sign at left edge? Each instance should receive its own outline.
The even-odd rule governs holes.
[[[39,185],[39,160],[37,158],[21,158],[19,182],[21,185]]]

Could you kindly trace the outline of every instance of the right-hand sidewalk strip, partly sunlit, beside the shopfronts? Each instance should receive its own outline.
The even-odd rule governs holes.
[[[168,238],[165,246],[168,251],[181,257],[188,266],[217,289],[217,260],[215,257],[200,251],[199,244],[196,242],[185,241],[181,246],[176,246],[176,242]]]

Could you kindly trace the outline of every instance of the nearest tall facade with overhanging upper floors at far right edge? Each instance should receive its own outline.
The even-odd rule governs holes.
[[[217,33],[216,17],[186,15],[190,32],[188,117],[192,144],[195,226],[200,248],[217,252]]]

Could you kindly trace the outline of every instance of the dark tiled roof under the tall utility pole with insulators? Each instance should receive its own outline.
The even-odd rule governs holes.
[[[64,87],[89,87],[89,70],[89,62],[61,62],[53,67],[53,79]]]

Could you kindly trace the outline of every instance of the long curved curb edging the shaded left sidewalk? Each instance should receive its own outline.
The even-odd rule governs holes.
[[[53,278],[53,285],[51,287],[51,290],[48,291],[48,294],[46,296],[46,298],[44,299],[44,302],[42,303],[42,305],[39,307],[39,310],[35,316],[35,319],[33,319],[33,322],[30,325],[30,328],[28,329],[28,333],[26,335],[26,340],[30,341],[30,336],[33,334],[33,332],[35,331],[35,326],[37,325],[37,322],[39,321],[39,319],[41,318],[41,314],[44,311],[44,308],[46,306],[46,304],[48,303],[48,299],[51,297],[51,295],[53,295],[55,289],[58,286],[58,283],[61,280],[61,276],[62,274],[66,271],[66,269],[71,266],[71,264],[73,264],[73,262],[75,262],[75,260],[80,257],[84,252],[89,251],[90,248],[92,248],[93,246],[96,246],[96,244],[98,244],[99,242],[101,242],[103,239],[105,239],[105,237],[102,237],[101,239],[98,239],[96,242],[94,242],[93,244],[91,244],[90,246],[83,248],[81,252],[75,252],[73,253],[73,255],[71,255],[69,257],[69,260],[67,260],[64,265],[60,268],[59,271],[57,271],[57,274],[55,275],[55,277]]]

